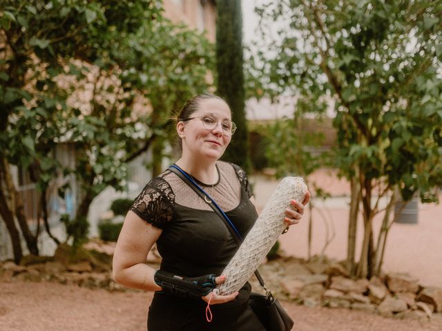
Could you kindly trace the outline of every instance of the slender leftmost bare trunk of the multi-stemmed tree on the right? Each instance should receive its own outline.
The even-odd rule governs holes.
[[[347,268],[349,273],[354,275],[354,273],[356,272],[354,263],[356,251],[356,230],[358,224],[359,201],[361,200],[361,195],[359,191],[358,180],[352,177],[350,183],[352,196],[350,201],[347,234]]]

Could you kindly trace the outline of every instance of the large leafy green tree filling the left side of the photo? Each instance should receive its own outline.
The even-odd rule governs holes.
[[[0,215],[15,261],[15,219],[33,254],[39,228],[28,228],[10,165],[37,184],[49,233],[46,192],[57,176],[75,174],[81,194],[72,221],[84,223],[94,197],[108,185],[124,188],[126,163],[164,136],[168,107],[206,90],[211,45],[164,19],[161,5],[1,1]],[[75,168],[57,161],[58,143],[73,146]]]

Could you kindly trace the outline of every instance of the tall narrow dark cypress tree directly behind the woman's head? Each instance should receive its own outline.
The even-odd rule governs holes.
[[[244,72],[242,54],[242,12],[240,0],[221,0],[216,3],[216,72],[217,90],[232,111],[238,126],[224,159],[250,168],[249,132],[245,117]]]

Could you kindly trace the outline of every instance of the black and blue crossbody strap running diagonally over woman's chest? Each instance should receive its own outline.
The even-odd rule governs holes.
[[[184,170],[182,170],[177,165],[175,165],[175,164],[171,165],[169,167],[169,170],[171,170],[171,172],[173,172],[178,177],[180,177],[180,179],[182,179],[184,181],[184,183],[189,185],[200,197],[202,197],[202,199],[204,199],[204,201],[206,201],[206,203],[208,205],[211,206],[211,208],[213,209],[215,214],[218,214],[218,216],[222,219],[222,221],[224,221],[224,224],[227,226],[227,229],[231,233],[233,239],[236,241],[238,246],[241,245],[242,238],[241,238],[238,230],[236,230],[235,225],[233,225],[233,223],[230,221],[229,217],[227,217],[227,215],[224,212],[222,212],[221,208],[215,203],[215,201],[213,201],[213,199],[209,196],[209,194],[206,194],[206,192],[204,192],[204,190],[202,190],[202,188],[200,188],[200,186],[198,186],[198,184],[195,183],[195,181],[193,181],[189,177],[189,175],[186,174],[186,172],[184,172]],[[206,200],[207,198],[211,202],[208,202]],[[266,291],[268,291],[267,288],[265,287],[264,279],[262,279],[261,274],[258,272],[258,270],[255,270],[255,276],[258,279],[258,281],[260,282],[260,285],[263,288],[265,288]]]

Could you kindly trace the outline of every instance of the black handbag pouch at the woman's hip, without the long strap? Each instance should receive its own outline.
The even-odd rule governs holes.
[[[294,321],[271,293],[266,296],[252,292],[249,305],[267,331],[289,331],[293,328]]]

